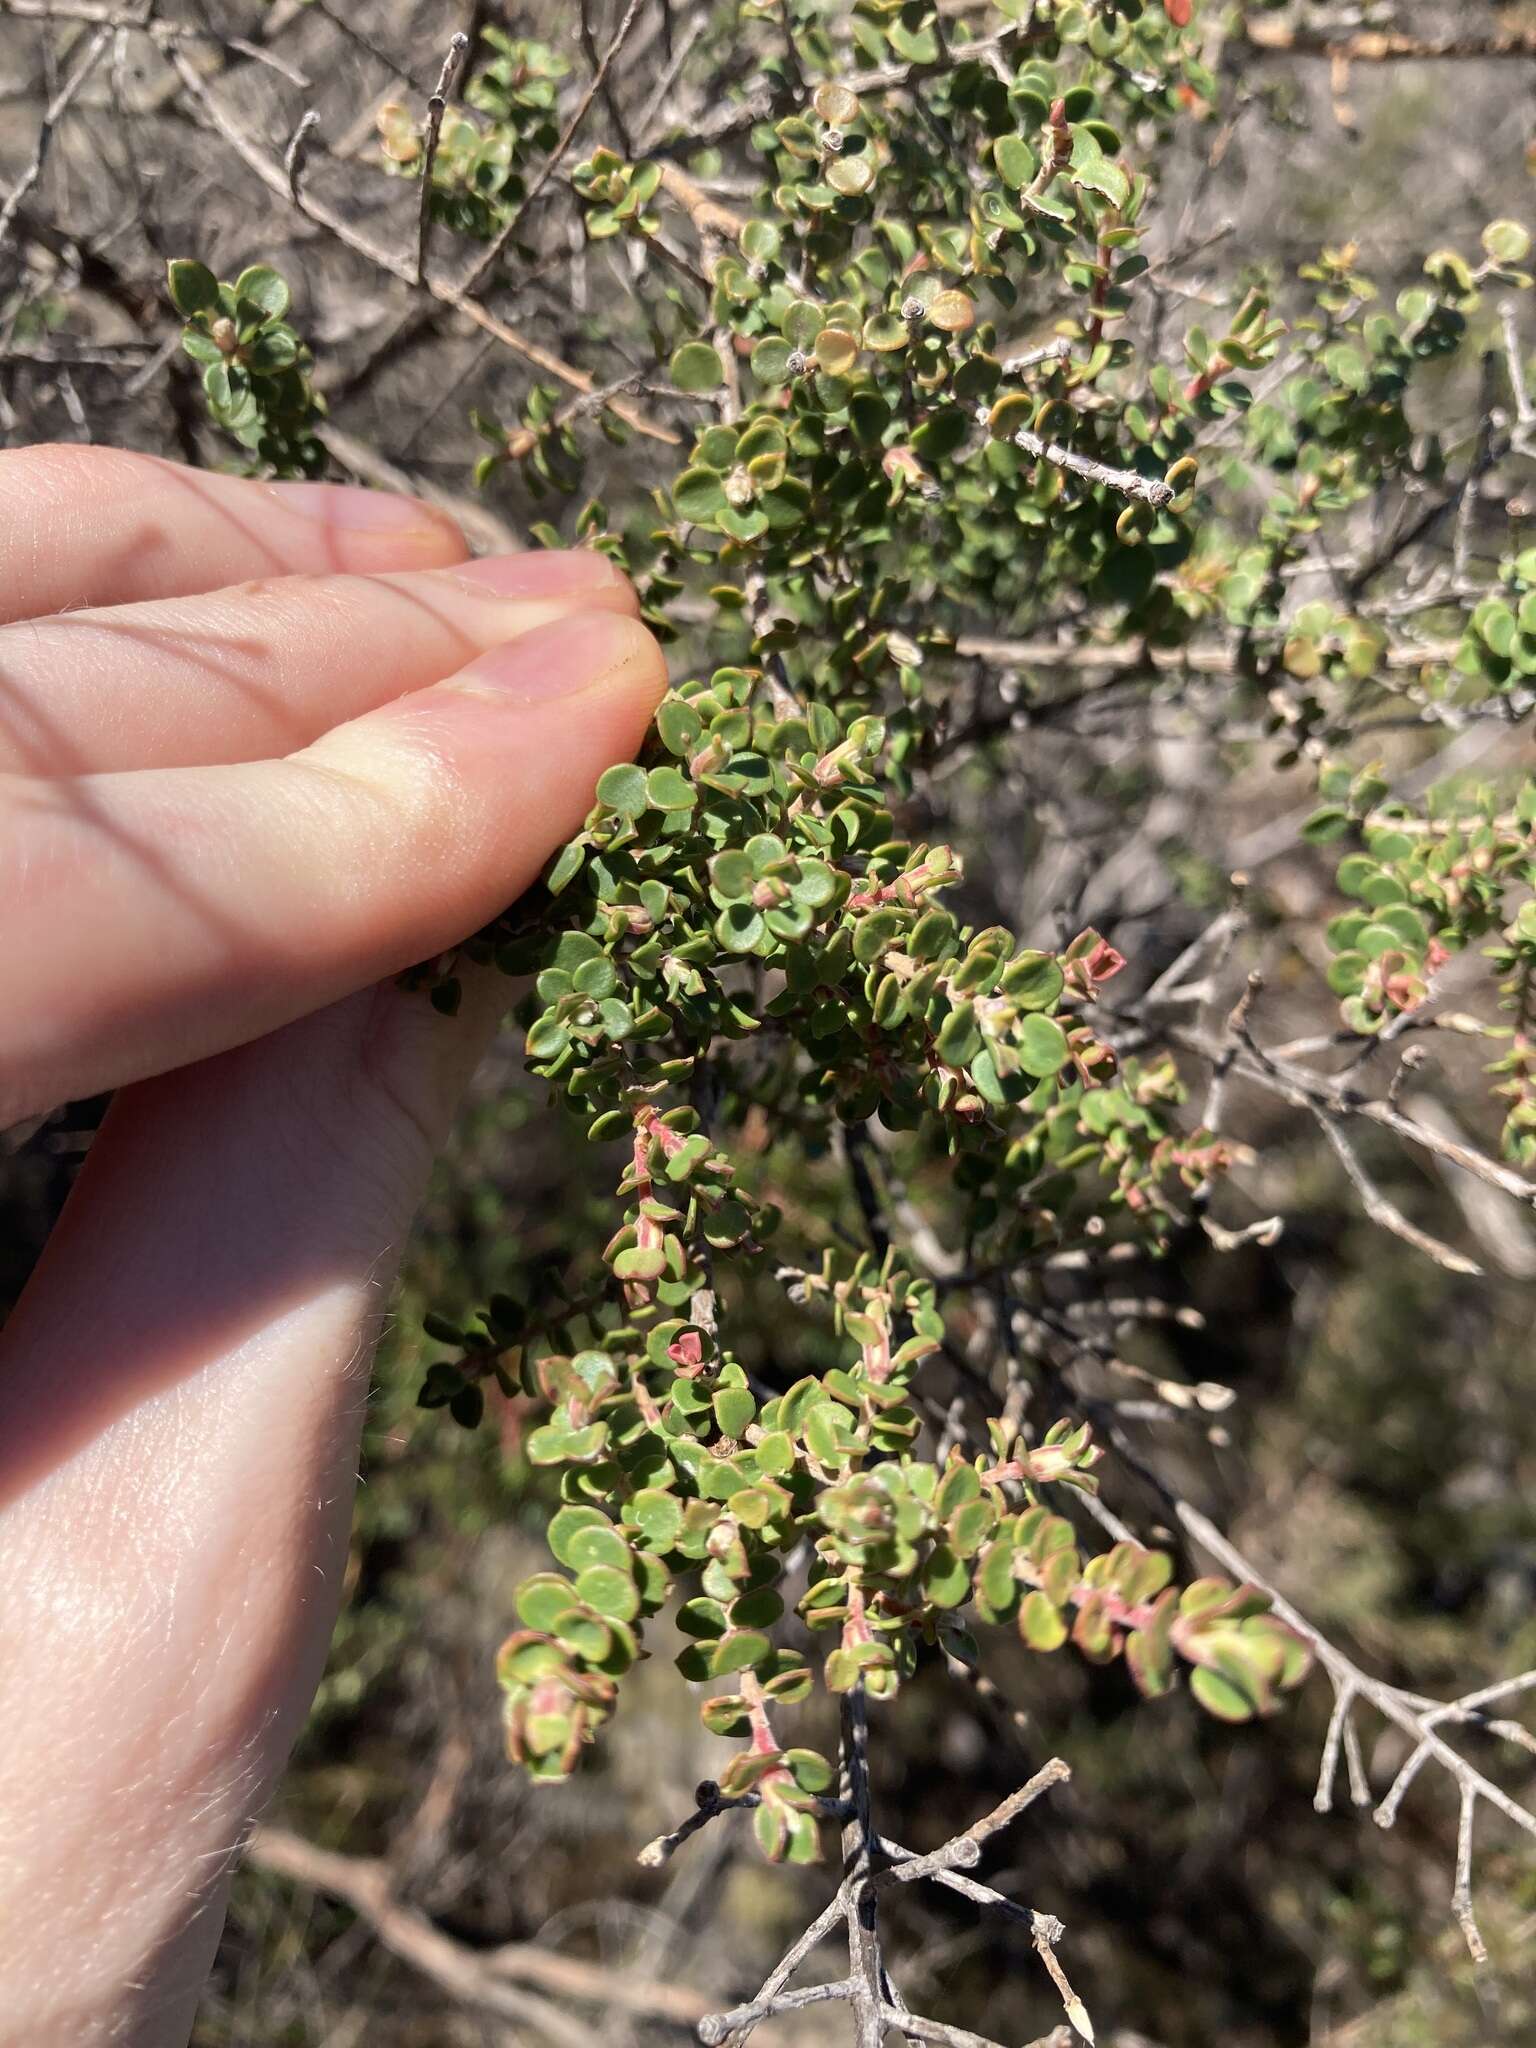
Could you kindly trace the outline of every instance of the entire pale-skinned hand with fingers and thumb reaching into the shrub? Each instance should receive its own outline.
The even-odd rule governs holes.
[[[180,2048],[326,1655],[369,1362],[506,985],[393,975],[666,684],[598,557],[0,455],[0,1126],[117,1090],[0,1331],[0,2044]]]

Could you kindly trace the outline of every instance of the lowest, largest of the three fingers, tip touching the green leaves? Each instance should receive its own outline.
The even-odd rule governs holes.
[[[0,1124],[455,944],[582,823],[664,688],[643,627],[578,612],[285,760],[12,780]]]

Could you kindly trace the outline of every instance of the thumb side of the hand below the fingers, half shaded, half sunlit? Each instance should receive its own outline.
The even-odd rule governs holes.
[[[4,2048],[186,2040],[319,1677],[395,1253],[504,995],[365,989],[123,1090],[0,1335]]]

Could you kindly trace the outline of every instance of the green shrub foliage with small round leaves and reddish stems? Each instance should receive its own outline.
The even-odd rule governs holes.
[[[1167,342],[1159,166],[1227,92],[1192,12],[743,6],[768,55],[705,133],[662,123],[649,150],[612,137],[565,166],[588,240],[643,256],[612,317],[647,367],[575,395],[541,377],[475,416],[477,479],[545,500],[541,541],[625,565],[678,682],[541,887],[414,977],[444,1008],[463,961],[532,977],[528,1065],[614,1149],[606,1245],[432,1319],[449,1356],[422,1405],[473,1427],[487,1391],[537,1403],[526,1456],[559,1475],[557,1569],[518,1589],[500,1659],[514,1759],[563,1778],[676,1597],[678,1669],[743,1743],[719,1790],[752,1798],[774,1858],[817,1853],[834,1769],[793,1741],[817,1683],[881,1700],[930,1653],[985,1669],[999,1626],[1122,1657],[1145,1696],[1188,1681],[1233,1722],[1307,1675],[1319,1640],[1266,1587],[1235,1567],[1174,1583],[1167,1550],[1096,1518],[1120,1450],[1079,1370],[1102,1348],[1040,1280],[1243,1239],[1212,1214],[1241,1153],[1221,1077],[1309,1110],[1374,1221],[1475,1272],[1378,1196],[1343,1130],[1444,1143],[1397,1083],[1348,1073],[1409,1028],[1503,1030],[1503,1159],[1470,1169],[1532,1198],[1536,784],[1403,795],[1374,741],[1399,715],[1513,727],[1536,705],[1530,547],[1511,528],[1495,565],[1460,532],[1425,571],[1411,524],[1427,502],[1458,526],[1489,461],[1530,455],[1501,311],[1530,238],[1493,221],[1389,293],[1352,248],[1290,279],[1229,254],[1212,311]],[[528,254],[561,70],[498,35],[473,117],[444,123],[432,207],[477,264]],[[422,176],[424,129],[401,106],[383,129],[389,168]],[[1196,203],[1186,231],[1210,229]],[[217,379],[213,281],[174,266],[172,289]],[[266,348],[229,291],[240,346]],[[1425,389],[1479,352],[1499,406],[1473,442],[1425,426]],[[285,453],[311,449],[301,373],[246,369],[209,387],[215,420],[307,469]],[[649,500],[582,502],[604,438]],[[1210,676],[1227,748],[1315,770],[1294,842],[1337,842],[1343,907],[1309,973],[1341,999],[1348,1069],[1266,1053],[1253,989],[1200,1032],[1094,928],[1022,944],[971,907],[967,848],[913,831],[942,772],[985,840],[999,748],[1102,678],[1180,705]],[[1028,829],[1061,829],[1049,791]],[[1241,887],[1190,874],[1212,930]],[[1468,948],[1511,1022],[1436,1008]],[[930,1391],[940,1354],[958,1415]]]

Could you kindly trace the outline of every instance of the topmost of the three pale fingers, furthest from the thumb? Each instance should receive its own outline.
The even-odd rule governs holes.
[[[414,498],[68,442],[0,455],[0,623],[297,569],[442,569],[469,553],[453,520]]]

